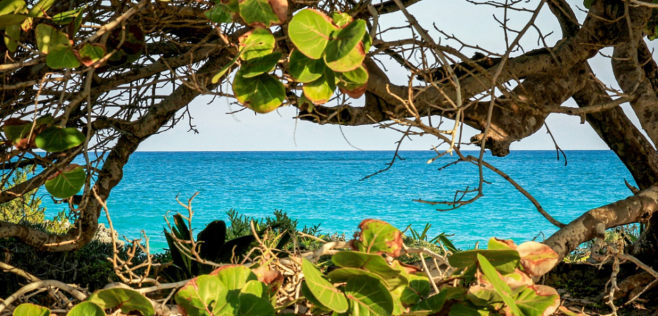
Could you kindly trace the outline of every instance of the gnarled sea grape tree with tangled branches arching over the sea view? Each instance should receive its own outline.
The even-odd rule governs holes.
[[[437,44],[438,38],[423,29],[432,21],[418,22],[406,10],[418,2],[0,1],[2,168],[8,174],[24,166],[41,168],[3,189],[0,203],[45,185],[77,215],[66,235],[0,222],[0,238],[16,237],[47,251],[88,243],[104,201],[139,144],[181,123],[199,95],[215,95],[258,113],[296,106],[299,119],[318,124],[379,124],[399,130],[402,139],[435,136],[447,146],[438,155],[454,152],[456,162],[477,165],[480,182],[458,192],[461,198],[421,202],[452,208],[473,203],[482,196],[482,169],[489,168],[561,228],[546,240],[561,257],[606,228],[641,222],[648,228],[633,253],[656,264],[658,65],[647,45],[656,36],[656,5],[586,0],[589,11],[579,22],[574,6],[564,0],[479,3],[505,16],[528,15],[517,30],[501,20],[506,36],[500,40],[507,49],[495,53],[447,34],[462,47]],[[526,8],[530,5],[535,7]],[[552,47],[521,47],[542,10],[553,13],[562,39]],[[390,30],[378,20],[391,14],[406,17],[415,36],[387,36]],[[614,49],[611,65],[621,91],[602,84],[588,65],[606,47]],[[464,49],[476,54],[469,58]],[[407,85],[392,84],[377,63],[383,57],[404,67]],[[224,88],[226,82],[231,89]],[[351,98],[363,95],[364,105],[352,104]],[[561,106],[569,98],[579,107]],[[339,105],[326,105],[329,100]],[[625,102],[649,139],[620,109]],[[510,143],[537,132],[551,113],[586,120],[632,173],[639,186],[634,195],[565,225],[484,161],[485,149],[507,155]],[[454,124],[443,130],[427,120],[431,116]],[[479,157],[462,155],[463,125],[481,132],[470,138],[482,148]],[[84,157],[84,166],[71,164],[77,156]],[[80,189],[82,195],[75,195]]]

